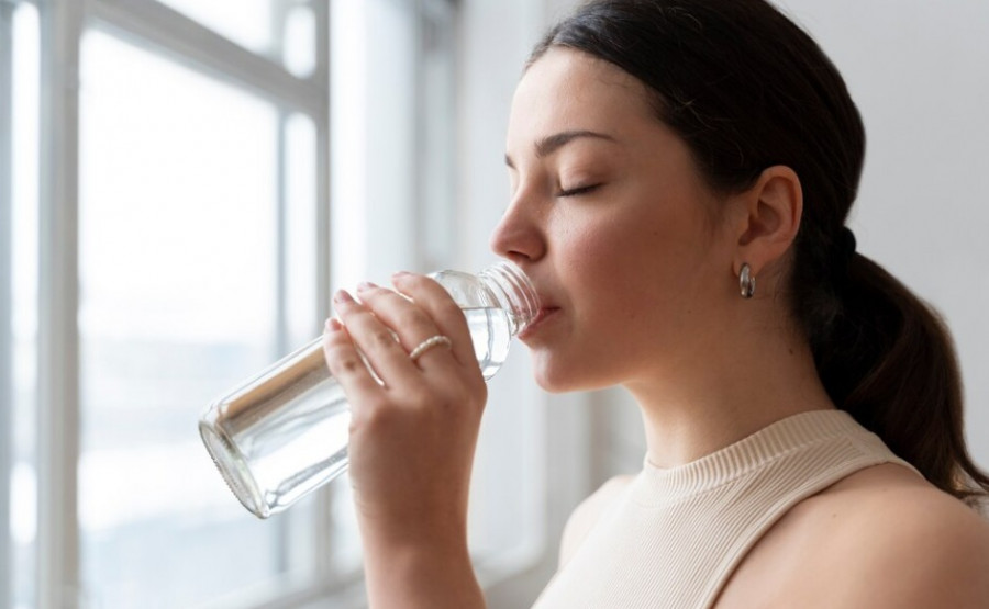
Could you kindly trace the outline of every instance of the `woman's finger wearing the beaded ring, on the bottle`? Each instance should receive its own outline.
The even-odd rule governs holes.
[[[451,354],[453,339],[443,335],[433,318],[419,304],[395,290],[379,287],[373,283],[358,285],[357,294],[377,319],[396,329],[399,341],[410,358],[420,347],[425,349],[416,357],[416,361],[413,362],[415,365],[421,366],[421,362],[435,362],[441,368],[457,364]],[[443,337],[451,343],[435,340],[436,337]]]

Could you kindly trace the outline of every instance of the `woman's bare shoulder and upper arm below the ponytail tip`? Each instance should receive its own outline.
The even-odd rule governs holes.
[[[905,467],[849,475],[787,512],[719,608],[989,607],[989,521]]]

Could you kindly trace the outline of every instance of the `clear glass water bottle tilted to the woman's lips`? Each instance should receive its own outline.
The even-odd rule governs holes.
[[[476,275],[431,274],[464,309],[485,379],[511,338],[540,311],[529,279],[511,262]],[[202,441],[233,494],[259,518],[277,514],[347,469],[351,411],[323,359],[322,337],[210,405]]]

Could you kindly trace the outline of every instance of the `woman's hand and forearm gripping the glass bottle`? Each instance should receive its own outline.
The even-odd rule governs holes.
[[[326,323],[323,339],[351,404],[349,477],[371,605],[481,606],[467,498],[487,385],[464,313],[446,291],[410,273],[392,283],[398,292],[362,284],[360,302],[338,292],[340,320]],[[449,338],[449,348],[410,359],[434,336]]]

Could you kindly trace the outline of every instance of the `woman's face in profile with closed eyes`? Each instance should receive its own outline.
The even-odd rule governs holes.
[[[542,296],[521,337],[538,383],[629,385],[702,363],[737,298],[732,244],[719,198],[644,87],[551,49],[515,91],[507,162],[511,202],[491,247]]]

